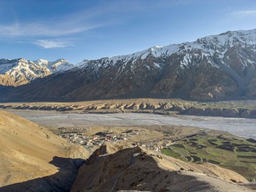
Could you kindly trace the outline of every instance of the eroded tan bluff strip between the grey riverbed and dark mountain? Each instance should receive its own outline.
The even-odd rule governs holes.
[[[74,113],[156,113],[256,119],[255,100],[196,102],[180,99],[117,99],[84,102],[7,102],[0,108],[57,110]]]

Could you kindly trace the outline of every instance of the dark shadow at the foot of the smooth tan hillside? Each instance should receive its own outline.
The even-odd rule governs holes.
[[[22,183],[15,183],[0,187],[0,192],[23,192],[23,191],[36,191],[36,192],[65,192],[71,189],[73,182],[75,181],[79,166],[84,164],[83,159],[61,158],[53,157],[53,160],[49,162],[59,168],[59,171],[55,174],[47,177],[41,177],[24,181]],[[38,170],[40,172],[40,170]]]

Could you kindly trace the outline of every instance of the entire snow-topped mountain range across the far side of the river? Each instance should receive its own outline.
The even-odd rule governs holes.
[[[64,68],[57,67],[59,73],[54,73],[54,65],[44,62],[24,63],[26,69],[40,65],[46,70],[36,69],[41,78],[33,76],[26,81],[34,79],[30,84],[2,91],[2,100],[256,97],[256,29],[154,46],[130,55],[84,60],[75,67],[66,63]]]

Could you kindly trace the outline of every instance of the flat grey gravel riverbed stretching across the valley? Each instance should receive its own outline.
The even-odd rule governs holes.
[[[155,115],[146,113],[79,114],[52,110],[7,110],[44,127],[73,127],[79,125],[143,126],[182,125],[227,131],[241,137],[256,139],[256,119],[200,117],[186,115]]]

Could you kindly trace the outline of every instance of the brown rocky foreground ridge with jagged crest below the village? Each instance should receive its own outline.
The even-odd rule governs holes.
[[[241,175],[214,164],[192,164],[139,147],[107,143],[79,168],[77,191],[251,191]]]

